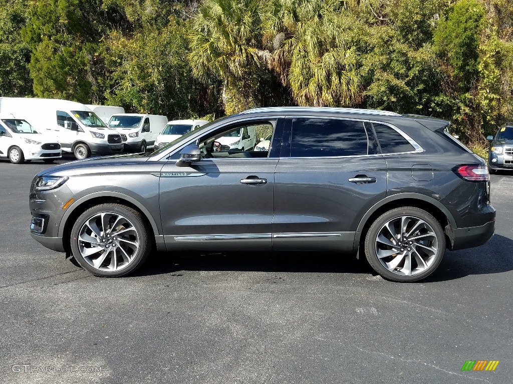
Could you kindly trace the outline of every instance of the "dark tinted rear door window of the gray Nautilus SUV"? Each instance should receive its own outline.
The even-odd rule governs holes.
[[[291,157],[367,154],[367,134],[362,121],[317,118],[292,120]]]

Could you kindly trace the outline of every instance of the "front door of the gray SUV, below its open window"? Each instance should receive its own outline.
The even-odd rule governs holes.
[[[220,151],[221,145],[213,140],[254,124],[244,120],[202,136],[198,143],[203,145],[205,158],[200,162],[177,166],[179,154],[175,153],[164,165],[158,176],[168,249],[271,248],[274,169],[283,119],[258,122],[274,132],[269,152]]]

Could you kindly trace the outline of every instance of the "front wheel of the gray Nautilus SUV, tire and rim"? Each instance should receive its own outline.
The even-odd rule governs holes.
[[[86,210],[71,229],[75,260],[95,276],[133,272],[151,252],[151,231],[135,209],[101,204]]]

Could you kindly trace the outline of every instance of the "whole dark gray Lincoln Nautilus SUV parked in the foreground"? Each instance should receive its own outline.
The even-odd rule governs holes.
[[[486,164],[448,125],[372,110],[245,111],[150,154],[40,172],[31,235],[98,276],[130,273],[156,247],[365,253],[386,279],[417,281],[446,248],[494,233]],[[230,149],[237,132],[271,135],[268,150]]]

